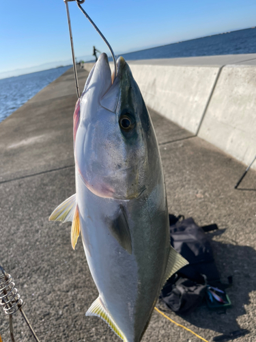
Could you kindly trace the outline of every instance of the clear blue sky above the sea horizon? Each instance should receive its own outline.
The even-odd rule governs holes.
[[[69,7],[78,59],[93,58],[93,45],[109,54],[76,2]],[[116,54],[256,25],[255,0],[86,0],[83,7]],[[42,70],[70,59],[63,0],[1,1],[0,78],[9,70]]]

